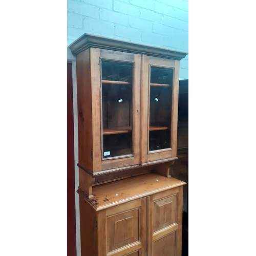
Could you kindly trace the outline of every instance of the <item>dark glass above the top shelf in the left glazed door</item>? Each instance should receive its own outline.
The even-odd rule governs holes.
[[[132,81],[132,65],[130,63],[102,61],[102,80]]]

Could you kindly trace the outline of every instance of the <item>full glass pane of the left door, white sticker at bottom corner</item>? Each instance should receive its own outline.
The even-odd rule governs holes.
[[[130,63],[102,61],[102,159],[133,154],[132,70]]]

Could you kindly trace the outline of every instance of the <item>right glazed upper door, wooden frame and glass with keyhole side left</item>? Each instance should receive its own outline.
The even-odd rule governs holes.
[[[141,56],[141,163],[176,157],[179,61]]]

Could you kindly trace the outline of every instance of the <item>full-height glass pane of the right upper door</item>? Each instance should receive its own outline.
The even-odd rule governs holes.
[[[148,150],[170,148],[173,70],[151,67]]]

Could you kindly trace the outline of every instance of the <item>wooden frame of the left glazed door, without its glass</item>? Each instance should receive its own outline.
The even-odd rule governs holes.
[[[117,52],[105,49],[91,48],[91,76],[92,76],[92,121],[93,121],[93,172],[112,169],[122,166],[139,164],[139,129],[140,129],[140,55]],[[132,105],[132,132],[134,156],[116,157],[102,160],[102,113],[101,113],[101,81],[100,81],[100,61],[108,59],[113,61],[133,63],[133,105]]]

